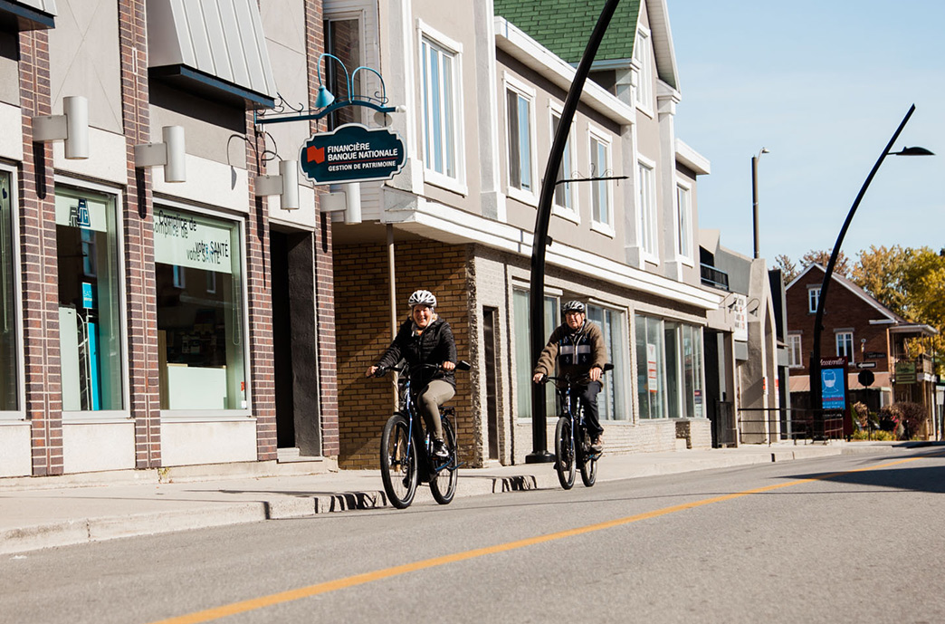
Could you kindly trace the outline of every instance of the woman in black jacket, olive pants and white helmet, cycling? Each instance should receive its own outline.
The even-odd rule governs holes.
[[[410,385],[417,391],[417,404],[426,423],[426,430],[433,438],[434,455],[449,457],[443,443],[443,427],[439,421],[439,407],[453,398],[456,381],[456,342],[450,323],[438,317],[435,309],[437,298],[429,290],[417,290],[407,300],[410,318],[404,321],[396,338],[387,347],[387,352],[374,366],[369,366],[366,376],[373,375],[378,368],[390,368],[405,359],[410,370]],[[421,364],[433,364],[438,368],[424,368]]]

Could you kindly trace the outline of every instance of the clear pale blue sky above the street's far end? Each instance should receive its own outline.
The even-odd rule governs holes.
[[[843,243],[945,247],[945,1],[667,0],[682,100],[677,136],[708,158],[701,228],[751,255],[751,157],[761,255],[833,247],[869,170],[916,105]]]

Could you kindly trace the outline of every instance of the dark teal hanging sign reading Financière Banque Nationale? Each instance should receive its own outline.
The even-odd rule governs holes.
[[[348,124],[301,147],[301,170],[316,184],[390,180],[404,168],[404,141],[386,128]]]

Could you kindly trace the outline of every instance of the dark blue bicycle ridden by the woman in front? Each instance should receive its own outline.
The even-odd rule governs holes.
[[[423,368],[438,369],[433,364],[421,364]],[[375,377],[387,371],[403,373],[406,365],[378,368]],[[456,371],[469,371],[469,362],[456,363]],[[423,435],[422,421],[410,388],[410,375],[404,383],[404,408],[387,419],[381,434],[381,480],[391,504],[403,510],[413,502],[417,484],[429,483],[430,493],[440,505],[449,505],[456,493],[459,481],[459,464],[456,457],[456,432],[452,419],[455,408],[441,407],[439,418],[443,426],[443,442],[448,457],[438,458],[431,452],[433,441],[429,434]]]

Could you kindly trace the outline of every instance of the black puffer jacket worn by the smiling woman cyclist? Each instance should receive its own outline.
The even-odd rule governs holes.
[[[419,336],[414,334],[413,321],[407,319],[397,332],[397,337],[387,347],[387,352],[377,363],[378,366],[389,368],[405,359],[410,367],[410,384],[414,390],[420,391],[430,381],[442,379],[449,382],[454,388],[456,385],[453,371],[436,371],[420,368],[418,364],[440,365],[443,362],[456,361],[456,342],[450,323],[437,319],[427,325]]]

